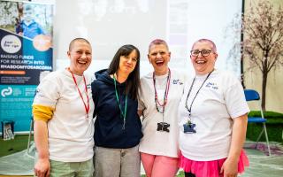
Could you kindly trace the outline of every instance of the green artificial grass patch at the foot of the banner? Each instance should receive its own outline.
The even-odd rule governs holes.
[[[15,135],[15,139],[4,141],[0,138],[0,157],[27,149],[28,135]]]

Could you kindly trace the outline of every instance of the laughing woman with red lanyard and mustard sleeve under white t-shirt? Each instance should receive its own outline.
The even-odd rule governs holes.
[[[34,142],[38,158],[34,174],[92,176],[94,103],[91,78],[84,72],[92,60],[88,40],[70,42],[70,65],[43,78],[34,97]]]

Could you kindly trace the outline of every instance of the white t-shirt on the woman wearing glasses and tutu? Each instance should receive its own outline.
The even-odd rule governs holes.
[[[241,82],[232,73],[215,70],[207,81],[206,75],[196,75],[193,89],[188,96],[192,81],[185,86],[179,106],[180,150],[186,158],[210,161],[226,158],[231,143],[233,119],[249,112]],[[203,81],[205,83],[203,84]],[[200,89],[203,84],[203,88]],[[195,97],[197,90],[199,93]],[[185,134],[183,124],[187,122],[192,100],[191,121],[195,123],[195,134]]]

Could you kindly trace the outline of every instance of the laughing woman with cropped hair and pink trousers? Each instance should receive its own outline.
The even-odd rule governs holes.
[[[177,111],[184,77],[169,68],[171,52],[164,40],[150,42],[148,58],[154,72],[141,79],[142,164],[147,177],[173,177],[179,169]]]

